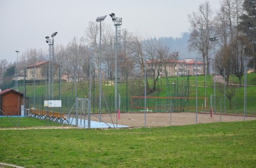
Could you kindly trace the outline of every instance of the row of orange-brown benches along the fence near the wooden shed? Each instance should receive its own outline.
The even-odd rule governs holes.
[[[30,116],[35,117],[35,118],[40,118],[40,119],[49,119],[54,122],[67,122],[68,123],[68,118],[64,116],[63,113],[58,113],[58,112],[52,112],[52,111],[39,111],[37,109],[31,109],[30,110]]]

